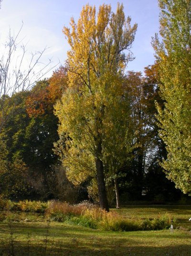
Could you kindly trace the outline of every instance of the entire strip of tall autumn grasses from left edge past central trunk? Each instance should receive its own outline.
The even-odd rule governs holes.
[[[58,221],[92,229],[105,231],[140,231],[140,230],[161,230],[170,228],[172,217],[163,214],[158,218],[128,218],[117,211],[106,212],[99,206],[88,201],[70,205],[59,201],[31,201],[24,200],[11,202],[1,199],[1,209],[10,211],[24,211],[44,213],[49,221]],[[3,220],[3,217],[1,217]],[[6,218],[4,218],[6,220]]]

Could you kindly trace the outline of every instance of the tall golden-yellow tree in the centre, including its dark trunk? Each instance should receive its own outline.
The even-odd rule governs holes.
[[[118,4],[114,13],[110,5],[103,4],[97,17],[96,8],[86,5],[78,23],[72,18],[71,30],[63,29],[71,47],[67,53],[69,88],[55,106],[61,123],[59,134],[69,138],[63,163],[75,181],[96,177],[100,206],[107,211],[106,155],[115,162],[115,145],[121,150],[119,136],[127,140],[128,111],[122,81],[132,60],[125,50],[131,48],[137,29],[137,24],[131,26],[130,22],[129,17],[125,19],[123,5]]]

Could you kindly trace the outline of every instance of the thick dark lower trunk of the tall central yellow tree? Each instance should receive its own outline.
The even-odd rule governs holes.
[[[99,194],[99,202],[101,209],[109,211],[107,197],[106,197],[106,185],[104,181],[104,166],[103,162],[96,158],[96,171],[97,171],[97,186]]]

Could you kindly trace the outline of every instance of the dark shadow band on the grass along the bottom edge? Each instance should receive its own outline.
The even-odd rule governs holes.
[[[121,241],[123,242],[123,241]],[[77,242],[75,242],[77,243]],[[3,256],[115,256],[115,255],[147,255],[147,256],[163,256],[163,255],[181,255],[190,256],[190,245],[171,245],[171,246],[124,246],[123,244],[113,245],[108,248],[104,244],[88,248],[88,244],[65,244],[53,243],[45,247],[44,244],[23,244],[17,243],[12,250],[8,245],[0,245],[0,255]]]

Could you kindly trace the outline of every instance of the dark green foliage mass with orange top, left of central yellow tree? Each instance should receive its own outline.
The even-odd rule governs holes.
[[[43,94],[47,87],[48,81],[43,80],[32,91],[15,93],[11,101],[14,109],[0,131],[0,193],[9,198],[23,198],[33,191],[43,198],[49,192],[44,181],[57,161],[53,141],[58,140],[58,119],[53,114],[56,99],[49,100]],[[37,113],[28,111],[31,102]]]

